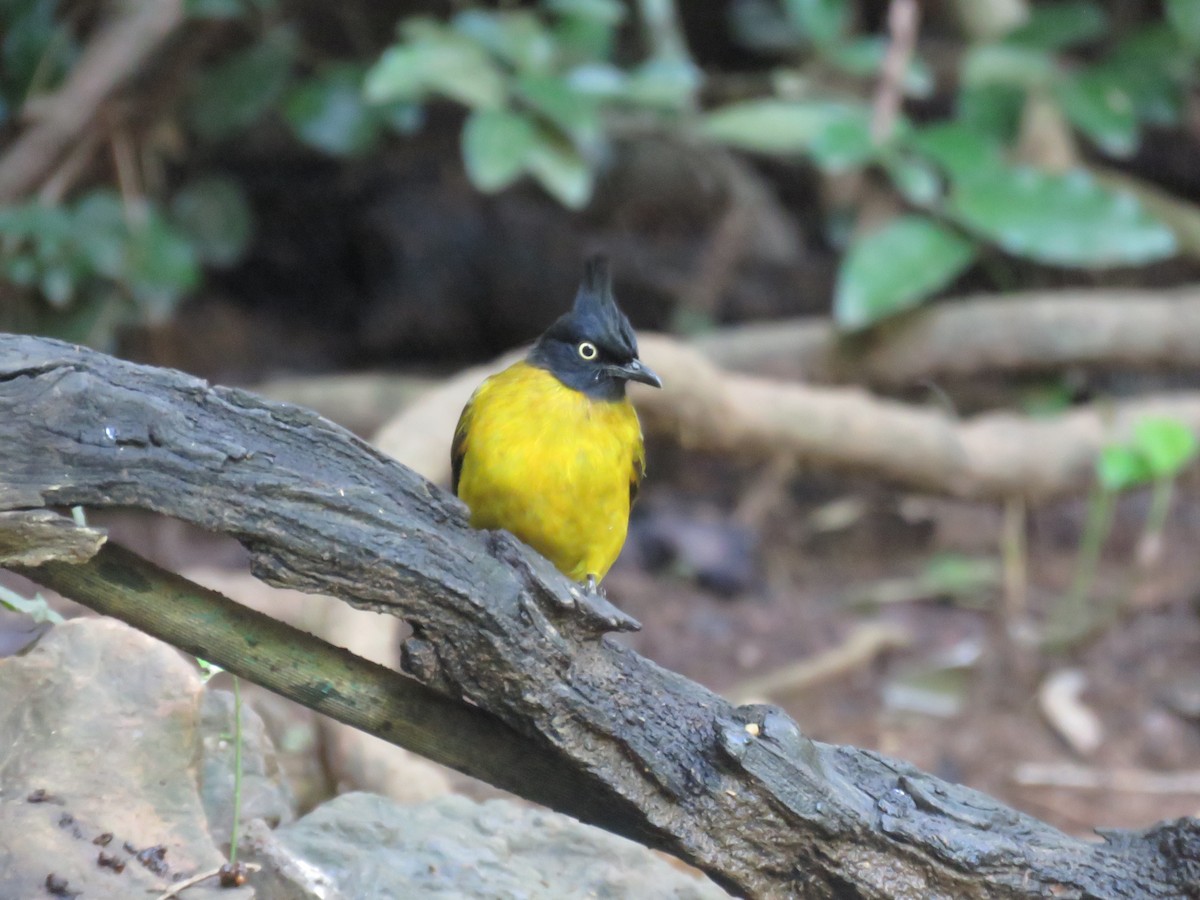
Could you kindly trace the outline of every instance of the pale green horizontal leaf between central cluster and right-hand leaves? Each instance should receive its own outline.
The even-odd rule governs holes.
[[[865,162],[875,152],[869,110],[850,103],[751,100],[713,110],[701,127],[709,138],[742,150],[811,155],[830,168]]]

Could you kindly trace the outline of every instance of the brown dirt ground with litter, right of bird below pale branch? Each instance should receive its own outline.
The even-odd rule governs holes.
[[[763,478],[755,467],[730,473],[719,461],[676,462],[690,473],[653,468],[647,508],[683,496],[706,509],[698,515],[721,515],[719,494],[746,497]],[[707,494],[695,492],[704,480]],[[1022,611],[1006,599],[998,577],[998,509],[820,476],[796,475],[784,486],[758,512],[758,583],[750,589],[722,598],[632,565],[613,571],[610,596],[646,626],[634,647],[738,698],[755,697],[763,673],[832,652],[835,662],[823,677],[814,678],[810,666],[802,682],[768,697],[810,737],[899,756],[1073,833],[1200,814],[1194,485],[1177,497],[1162,558],[1136,576],[1130,572],[1146,497],[1118,505],[1092,598],[1093,610],[1118,605],[1115,620],[1055,650],[1038,646],[1036,626],[1074,575],[1082,502],[1027,516]],[[839,505],[859,515],[822,530]],[[996,577],[980,578],[970,592],[913,580],[946,553],[995,560]],[[876,653],[839,654],[865,626],[883,626],[889,640]],[[1064,670],[1081,673],[1079,703],[1100,726],[1088,752],[1073,750],[1038,702],[1046,679]],[[1051,715],[1066,718],[1069,731],[1073,712]],[[1039,774],[1040,784],[1022,784]]]

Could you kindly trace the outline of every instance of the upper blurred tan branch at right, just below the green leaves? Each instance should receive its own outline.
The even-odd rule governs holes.
[[[1063,366],[1189,371],[1200,365],[1200,288],[965,296],[854,338],[805,318],[721,329],[696,347],[724,368],[881,388]]]

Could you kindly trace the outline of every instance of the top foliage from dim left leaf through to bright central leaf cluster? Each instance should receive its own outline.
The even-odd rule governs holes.
[[[462,157],[475,187],[500,191],[529,175],[578,209],[606,155],[606,112],[671,114],[691,104],[697,86],[685,61],[613,65],[625,14],[619,0],[542,0],[536,10],[468,7],[448,22],[419,16],[401,23],[401,40],[373,65],[320,61],[304,74],[295,31],[274,24],[205,73],[188,121],[220,140],[278,106],[302,143],[360,156],[389,133],[412,134],[430,103],[449,101],[468,110]]]

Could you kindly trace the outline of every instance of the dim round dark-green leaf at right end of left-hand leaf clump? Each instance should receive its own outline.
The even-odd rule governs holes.
[[[170,202],[172,221],[200,262],[227,269],[241,259],[254,230],[246,196],[236,181],[210,175],[180,188]]]

